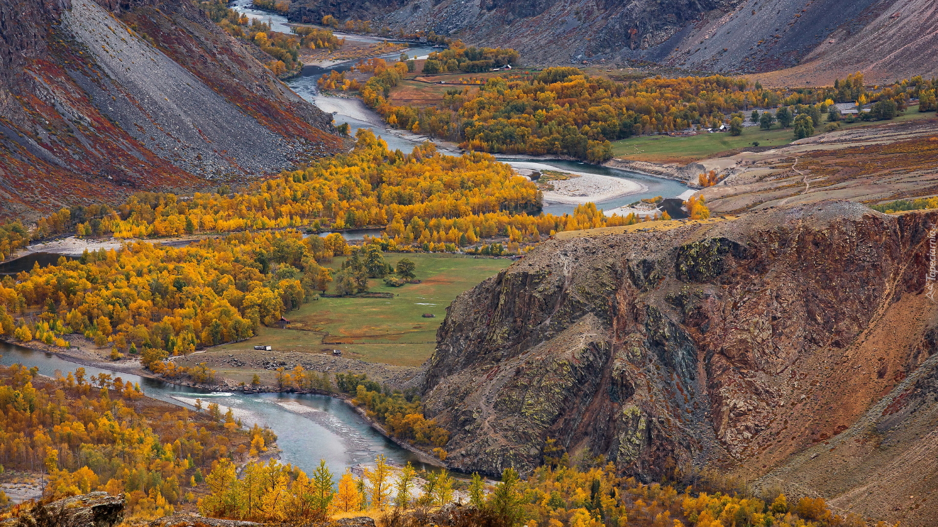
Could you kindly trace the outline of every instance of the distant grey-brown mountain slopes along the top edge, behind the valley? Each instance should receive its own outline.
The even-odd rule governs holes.
[[[433,31],[514,48],[529,64],[655,62],[804,86],[857,70],[877,83],[938,74],[926,59],[938,50],[935,9],[927,0],[293,0],[289,16]],[[776,70],[782,73],[764,76]]]

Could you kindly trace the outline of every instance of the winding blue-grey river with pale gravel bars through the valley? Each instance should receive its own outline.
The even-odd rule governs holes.
[[[251,8],[251,0],[234,0],[231,8],[247,14],[250,18],[261,19],[272,24],[273,29],[284,33],[290,32],[286,17],[270,14]],[[347,35],[342,36],[362,42],[378,42],[378,38],[368,38]],[[422,56],[432,51],[426,45],[414,46],[408,53],[411,56]],[[394,58],[397,53],[390,53],[386,58]],[[415,146],[414,141],[390,133],[383,125],[383,120],[376,113],[371,112],[360,100],[355,98],[326,97],[319,93],[316,81],[332,69],[347,70],[355,61],[337,64],[329,68],[307,66],[302,74],[286,83],[301,97],[310,100],[313,104],[327,113],[333,113],[336,124],[349,123],[354,134],[358,128],[371,128],[376,134],[384,137],[392,149],[410,152]],[[613,208],[635,202],[641,198],[663,195],[675,196],[687,189],[686,186],[673,180],[662,179],[641,173],[631,173],[596,165],[564,161],[555,159],[510,159],[508,163],[536,162],[552,167],[582,173],[598,173],[621,177],[641,183],[644,190],[639,194],[631,194],[605,203],[597,203],[600,208]],[[544,212],[564,214],[572,212],[575,205],[563,203],[545,203]],[[343,233],[343,235],[346,233]],[[361,233],[356,233],[360,237]],[[346,237],[349,237],[348,235]],[[352,236],[355,237],[355,236]],[[34,256],[33,260],[17,262],[15,268],[4,269],[6,272],[23,270],[21,265],[31,267],[35,262],[40,265],[53,264],[59,255],[45,253]],[[10,263],[13,264],[13,263]],[[36,366],[39,373],[53,376],[55,371],[68,372],[79,368],[79,365],[68,362],[54,354],[48,354],[23,348],[15,344],[0,342],[0,364],[10,365],[22,363],[28,367]],[[431,468],[424,465],[416,455],[397,444],[387,440],[376,430],[371,429],[368,423],[347,404],[339,399],[318,395],[301,394],[261,394],[245,395],[233,392],[208,392],[175,384],[163,383],[159,380],[140,377],[119,371],[83,367],[89,375],[100,372],[111,373],[125,381],[140,383],[144,393],[152,398],[161,399],[173,404],[193,408],[195,399],[216,401],[222,407],[230,407],[234,414],[243,423],[250,426],[258,423],[268,426],[277,434],[280,446],[280,459],[285,463],[292,463],[308,474],[325,459],[333,474],[341,474],[345,469],[356,463],[369,463],[378,454],[384,454],[388,459],[403,464],[412,461],[415,465]]]

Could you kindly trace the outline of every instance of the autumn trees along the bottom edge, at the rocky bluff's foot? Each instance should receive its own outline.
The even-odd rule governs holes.
[[[601,457],[571,460],[552,440],[543,450],[545,464],[526,481],[515,484],[516,496],[510,500],[516,503],[510,515],[514,525],[525,520],[528,525],[557,527],[865,525],[855,514],[832,514],[822,498],[802,498],[789,504],[779,489],[756,498],[720,485],[714,489],[712,483],[698,483],[683,491],[667,484],[645,485],[622,476]],[[507,478],[503,475],[504,481]],[[495,492],[497,488],[492,495]]]

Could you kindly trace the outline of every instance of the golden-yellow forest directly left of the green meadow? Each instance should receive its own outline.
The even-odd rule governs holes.
[[[248,339],[260,324],[298,308],[329,279],[316,264],[326,255],[325,240],[295,231],[234,233],[186,248],[141,242],[99,249],[3,279],[0,330],[60,346],[68,334],[84,334],[98,345],[113,342],[115,352],[140,353],[144,367],[158,373],[204,382],[209,370],[176,371],[172,363],[164,370],[161,361]],[[35,324],[14,321],[27,312]]]

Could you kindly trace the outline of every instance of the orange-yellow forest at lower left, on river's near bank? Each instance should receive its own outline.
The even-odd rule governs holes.
[[[131,516],[172,514],[195,501],[193,488],[217,460],[248,459],[275,440],[269,429],[241,429],[217,406],[193,413],[110,374],[79,368],[50,379],[0,367],[0,461],[46,474],[50,499],[124,492]]]

